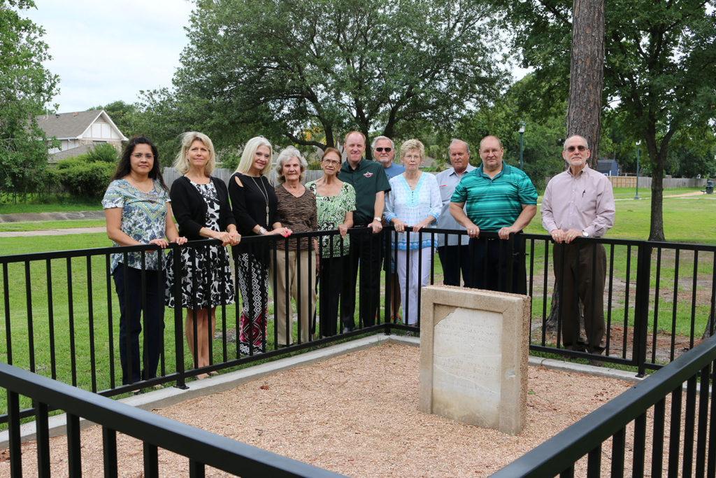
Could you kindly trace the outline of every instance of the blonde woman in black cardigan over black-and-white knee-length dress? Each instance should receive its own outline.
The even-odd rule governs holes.
[[[241,235],[228,202],[226,184],[211,177],[216,156],[211,139],[202,133],[184,133],[174,167],[184,176],[172,184],[169,197],[179,234],[190,241],[218,239],[236,246]],[[187,309],[185,335],[195,368],[209,365],[216,328],[216,306],[233,304],[233,281],[226,247],[188,247],[181,254],[181,304]],[[167,267],[167,305],[175,307],[173,266]],[[211,320],[210,320],[211,317]],[[205,378],[202,373],[197,378]]]

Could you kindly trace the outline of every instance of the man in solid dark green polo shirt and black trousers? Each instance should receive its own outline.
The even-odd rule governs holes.
[[[363,327],[374,325],[380,301],[381,231],[385,193],[390,191],[383,166],[363,158],[366,140],[363,133],[351,131],[346,135],[344,150],[347,161],[341,168],[340,179],[356,190],[354,227],[369,227],[369,234],[351,236],[351,249],[344,264],[341,291],[341,323],[344,332],[355,328],[356,279],[360,263],[360,321]]]

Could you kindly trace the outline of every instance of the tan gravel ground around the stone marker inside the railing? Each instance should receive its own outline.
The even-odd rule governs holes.
[[[417,347],[387,343],[155,413],[352,477],[482,477],[632,386],[530,367],[526,427],[510,436],[420,413],[418,360]],[[101,444],[100,427],[82,432],[84,476],[102,475]],[[51,447],[52,475],[67,475],[66,440],[54,438]],[[139,441],[118,435],[117,455],[122,477],[143,476]],[[2,457],[0,476],[9,476]],[[25,476],[37,474],[35,457],[35,443],[24,444]],[[160,450],[159,462],[161,476],[188,476],[183,457]]]

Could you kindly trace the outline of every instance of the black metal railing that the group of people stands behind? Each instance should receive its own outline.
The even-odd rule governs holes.
[[[352,236],[352,247],[365,247],[364,252],[369,256],[390,254],[397,263],[399,254],[403,254],[395,247],[397,235],[390,227],[385,231],[380,239],[384,242],[384,246],[381,247],[380,242],[359,240],[360,235],[370,234],[368,228],[352,229],[349,231]],[[309,328],[311,331],[315,330],[315,333],[309,333],[308,340],[304,340],[306,322],[298,320],[294,328],[294,320],[291,316],[286,314],[279,317],[274,307],[273,313],[267,314],[266,317],[268,322],[266,332],[264,333],[263,330],[260,332],[261,345],[258,348],[250,347],[248,353],[242,353],[239,346],[240,316],[242,308],[246,308],[247,304],[244,302],[245,297],[238,294],[238,287],[234,285],[234,290],[237,292],[236,303],[217,308],[218,332],[216,335],[207,334],[208,347],[211,350],[209,365],[198,367],[198,363],[191,362],[184,338],[184,312],[180,308],[168,309],[165,313],[166,330],[162,334],[163,343],[157,377],[126,385],[122,385],[117,377],[120,362],[117,357],[116,332],[119,314],[115,292],[112,289],[110,254],[115,252],[156,254],[156,247],[109,247],[1,256],[0,304],[1,317],[4,317],[4,330],[0,329],[0,335],[4,334],[6,347],[5,350],[0,350],[0,360],[79,388],[105,396],[115,396],[159,383],[172,383],[178,387],[185,387],[188,378],[200,373],[246,365],[256,360],[274,358],[293,350],[326,345],[340,338],[363,333],[396,331],[417,333],[420,330],[421,296],[419,287],[417,295],[411,296],[408,293],[414,285],[411,282],[414,279],[410,277],[417,268],[415,277],[419,277],[419,280],[424,280],[427,275],[428,283],[440,283],[441,264],[437,259],[434,239],[438,236],[447,239],[448,234],[451,233],[455,234],[456,231],[423,229],[419,233],[407,234],[409,241],[415,236],[419,241],[425,238],[433,239],[429,247],[420,248],[417,252],[417,262],[406,263],[406,279],[399,289],[399,293],[402,291],[402,295],[405,296],[405,300],[402,301],[403,310],[417,305],[415,325],[407,324],[405,316],[401,320],[401,317],[392,310],[395,297],[391,297],[393,294],[391,287],[384,287],[384,274],[375,270],[376,267],[389,266],[380,262],[376,266],[370,262],[368,267],[367,264],[362,264],[359,268],[372,269],[367,273],[380,281],[379,285],[383,289],[382,292],[378,291],[380,307],[373,311],[372,308],[369,309],[372,307],[372,302],[357,300],[354,310],[357,321],[354,322],[356,326],[354,330],[344,328],[342,320],[336,318],[330,332],[322,333],[325,324],[317,320],[321,310],[316,307],[317,312],[307,321]],[[289,238],[247,237],[242,240],[242,244],[252,242],[265,244],[269,249],[270,258],[276,263],[279,254],[284,254],[284,257],[288,254],[286,248],[278,249],[277,244],[282,243],[285,247],[291,242],[299,244],[301,240],[305,242],[326,235],[332,237],[334,242],[338,242],[342,252],[349,253],[350,248],[347,244],[343,244],[344,239],[337,231],[294,234]],[[498,272],[496,282],[512,284],[514,271],[524,274],[526,292],[532,297],[531,350],[578,358],[595,358],[595,355],[590,353],[563,348],[560,335],[561,319],[553,323],[548,320],[551,315],[554,287],[559,281],[559,277],[555,277],[552,265],[551,237],[521,234],[521,242],[518,244],[520,250],[516,251],[516,242],[501,241],[495,233],[483,232],[480,236],[495,242],[494,247],[497,248],[500,260],[503,257],[514,257],[516,252],[524,254],[524,265],[521,265],[524,271],[519,272],[520,269],[508,267],[504,269],[505,272]],[[209,244],[216,244],[216,242],[192,242],[185,248],[195,251]],[[700,342],[703,332],[712,332],[713,324],[707,321],[708,317],[713,315],[715,308],[716,247],[621,239],[578,239],[577,244],[584,244],[585,247],[589,247],[589,244],[603,244],[606,249],[604,292],[606,350],[604,355],[599,356],[599,360],[632,365],[637,368],[638,373],[643,374],[648,369],[658,369],[669,363],[683,350],[693,348]],[[323,247],[319,241],[320,255],[324,250]],[[175,250],[178,247],[172,245],[170,249]],[[382,252],[382,249],[387,252]],[[475,254],[478,253],[480,251],[477,247],[467,247],[465,252],[458,252],[458,254],[468,254],[470,264],[474,263]],[[458,256],[458,259],[461,261],[463,258]],[[289,298],[288,292],[283,297],[276,297],[276,274],[269,277],[269,285],[274,291],[273,295],[269,295],[269,302],[272,299],[273,305],[276,305],[280,300],[284,301],[286,310],[292,310],[293,305],[298,306],[293,310],[301,310],[304,300],[313,301],[313,294],[307,293],[309,290],[315,290],[318,286],[317,296],[320,298],[326,294],[326,290],[321,289],[319,278],[310,274],[314,267],[313,261],[315,259],[309,255],[308,270],[301,269],[300,264],[298,266],[297,274],[300,277],[307,274],[309,277],[306,278],[304,285],[299,283],[295,301]],[[180,262],[173,262],[173,267],[174,277],[181,277],[183,271]],[[287,269],[287,266],[284,267]],[[354,263],[348,264],[342,276],[354,277],[356,271],[353,267]],[[430,269],[427,274],[426,267]],[[286,269],[284,274],[287,274]],[[233,262],[231,280],[236,280],[239,273],[238,265]],[[483,275],[484,279],[485,269],[480,271],[475,268],[468,269],[470,281],[475,281],[478,275]],[[146,288],[146,281],[146,277],[142,275],[140,277],[142,290]],[[350,284],[350,281],[348,283]],[[330,286],[337,286],[337,284],[329,282]],[[364,291],[360,287],[354,287],[354,291],[356,289],[358,289],[357,297],[360,297]],[[252,292],[254,291],[249,290],[249,295]],[[170,293],[174,295],[175,303],[180,303],[177,282]],[[135,300],[143,302],[145,297],[142,294],[142,297],[135,297]],[[311,307],[314,306],[311,304]],[[373,314],[375,317],[372,317]],[[558,314],[552,315],[558,316]],[[174,320],[171,320],[172,316]],[[279,322],[283,322],[286,330],[291,330],[293,337],[292,345],[286,348],[279,344],[276,327]],[[193,337],[197,336],[194,330]],[[196,346],[197,343],[194,342],[194,345]],[[32,411],[28,408],[24,413],[29,416]],[[6,415],[0,415],[0,422],[2,421],[6,421]]]

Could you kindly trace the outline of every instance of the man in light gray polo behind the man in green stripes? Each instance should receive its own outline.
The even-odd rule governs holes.
[[[463,226],[455,221],[449,214],[450,198],[453,197],[455,186],[458,186],[460,179],[465,174],[473,171],[475,166],[470,164],[470,146],[463,140],[453,139],[448,148],[452,168],[442,171],[435,176],[437,186],[440,188],[440,199],[442,200],[442,211],[437,218],[437,229],[461,229]],[[445,234],[437,234],[437,255],[440,256],[442,264],[442,283],[445,285],[461,285],[460,269],[463,271],[465,287],[472,287],[470,284],[470,252],[468,248],[468,236],[458,234],[448,235],[448,244],[445,244]]]

